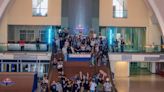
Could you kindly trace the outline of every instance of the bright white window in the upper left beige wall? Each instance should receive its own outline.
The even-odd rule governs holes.
[[[32,0],[33,16],[47,16],[48,0]]]

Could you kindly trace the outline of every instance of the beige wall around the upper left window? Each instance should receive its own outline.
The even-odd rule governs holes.
[[[13,0],[0,24],[0,43],[7,42],[7,25],[61,25],[61,0],[49,0],[48,16],[32,16],[32,0]]]

